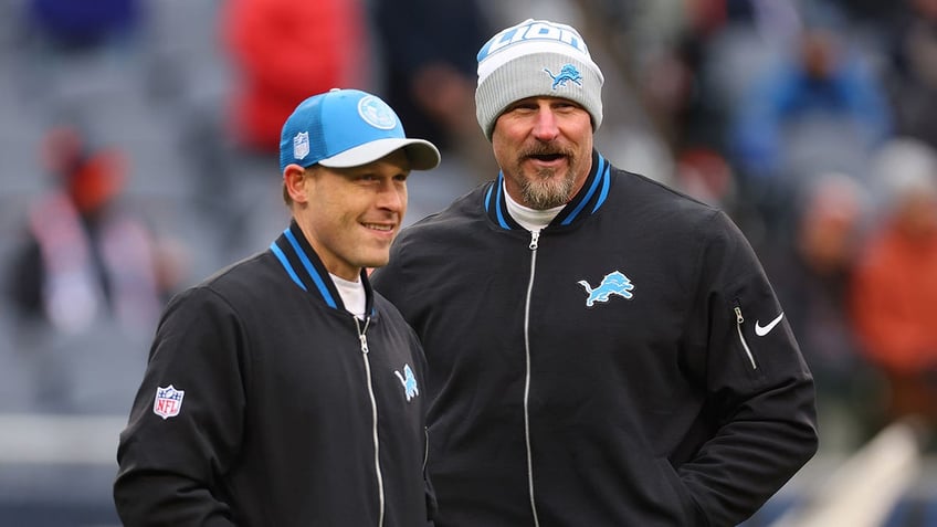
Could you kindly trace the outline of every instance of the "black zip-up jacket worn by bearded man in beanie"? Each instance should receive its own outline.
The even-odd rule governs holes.
[[[499,176],[371,277],[427,354],[436,526],[730,526],[815,452],[812,377],[740,231],[592,162],[539,234]]]

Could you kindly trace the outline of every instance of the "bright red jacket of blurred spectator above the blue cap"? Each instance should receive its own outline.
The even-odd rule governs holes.
[[[358,0],[223,2],[223,39],[235,70],[230,109],[241,146],[275,155],[283,122],[303,99],[367,87],[366,14]]]

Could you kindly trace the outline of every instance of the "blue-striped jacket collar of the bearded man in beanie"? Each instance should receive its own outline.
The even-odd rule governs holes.
[[[572,200],[554,218],[548,228],[569,225],[594,214],[606,202],[611,185],[611,165],[598,150],[592,150],[592,170]],[[488,183],[485,190],[485,213],[505,230],[524,229],[507,212],[504,197],[504,172]]]

